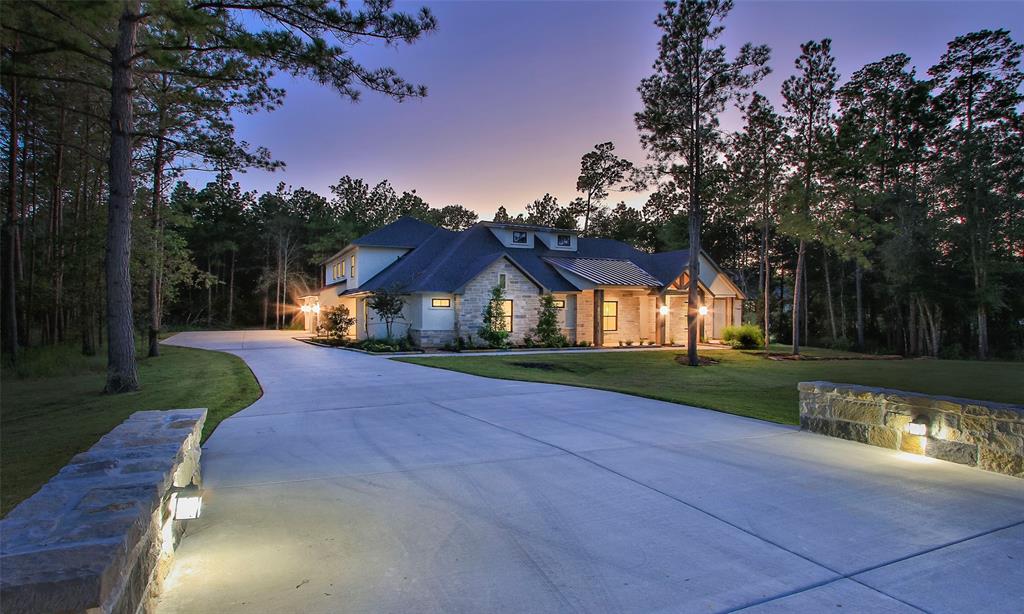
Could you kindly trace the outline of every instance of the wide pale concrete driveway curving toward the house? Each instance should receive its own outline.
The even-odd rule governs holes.
[[[163,613],[1024,611],[1022,480],[284,333],[168,343],[264,395],[204,448]]]

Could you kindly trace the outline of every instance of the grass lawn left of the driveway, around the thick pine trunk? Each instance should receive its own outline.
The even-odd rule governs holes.
[[[143,409],[209,409],[204,439],[260,396],[241,358],[162,346],[139,361],[138,392],[103,394],[105,351],[82,356],[75,346],[34,348],[5,367],[0,387],[0,514],[29,497],[72,456]]]

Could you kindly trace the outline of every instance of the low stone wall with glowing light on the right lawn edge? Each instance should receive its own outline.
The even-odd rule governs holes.
[[[1024,406],[801,382],[804,430],[1024,478]],[[906,425],[924,416],[927,435]]]

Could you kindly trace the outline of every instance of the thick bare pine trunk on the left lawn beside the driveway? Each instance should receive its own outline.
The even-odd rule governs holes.
[[[118,19],[111,62],[110,206],[106,214],[106,387],[138,390],[131,302],[133,55],[140,0],[128,0]]]

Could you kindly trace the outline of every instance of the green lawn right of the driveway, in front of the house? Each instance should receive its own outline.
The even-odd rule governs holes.
[[[774,348],[772,348],[774,350]],[[809,349],[808,355],[855,355]],[[758,352],[712,350],[718,364],[676,362],[683,350],[515,356],[396,358],[488,378],[569,384],[708,407],[783,424],[799,420],[797,383],[826,380],[1024,403],[1024,363],[970,360],[768,360]]]

